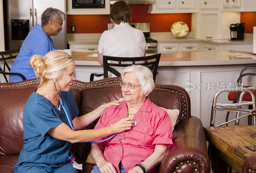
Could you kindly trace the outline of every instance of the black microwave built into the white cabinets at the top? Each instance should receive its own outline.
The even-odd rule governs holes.
[[[105,0],[72,0],[72,8],[105,8]]]

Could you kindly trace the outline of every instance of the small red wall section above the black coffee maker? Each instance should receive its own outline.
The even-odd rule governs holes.
[[[244,33],[253,34],[253,26],[256,26],[256,12],[241,12],[240,23],[245,23]]]

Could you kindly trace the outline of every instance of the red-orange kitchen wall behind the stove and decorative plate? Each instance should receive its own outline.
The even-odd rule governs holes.
[[[132,19],[130,23],[150,23],[151,32],[171,32],[174,22],[183,21],[191,31],[191,13],[149,14],[148,5],[130,5]],[[109,15],[68,15],[67,33],[71,33],[71,25],[76,26],[77,33],[102,33],[111,23]]]

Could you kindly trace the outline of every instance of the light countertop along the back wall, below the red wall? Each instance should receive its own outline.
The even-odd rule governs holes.
[[[169,42],[203,42],[208,44],[216,44],[216,45],[230,45],[230,44],[252,44],[252,40],[234,40],[230,41],[228,39],[197,39],[197,38],[154,38],[158,43],[169,43]],[[68,44],[98,44],[99,39],[68,39]]]

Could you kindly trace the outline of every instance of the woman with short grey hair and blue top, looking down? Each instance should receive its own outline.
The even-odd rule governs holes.
[[[33,68],[29,65],[29,59],[35,54],[44,56],[49,51],[57,50],[50,35],[54,36],[60,33],[61,25],[65,19],[66,15],[62,11],[56,8],[47,8],[41,16],[42,25],[36,24],[29,31],[10,72],[21,73],[26,79],[36,78]],[[19,76],[9,76],[9,82],[19,81],[22,81]]]

